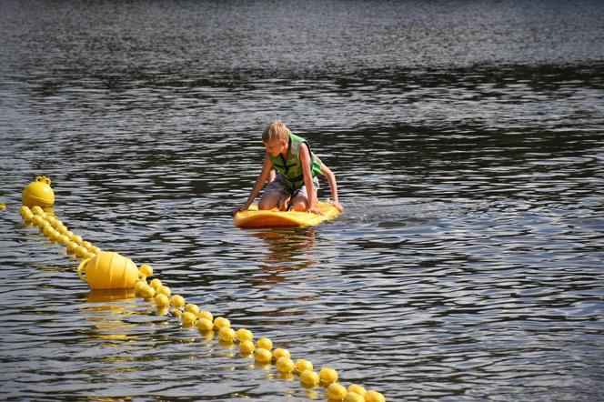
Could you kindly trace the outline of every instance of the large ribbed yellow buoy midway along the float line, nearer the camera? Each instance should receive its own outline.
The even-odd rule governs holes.
[[[82,272],[85,267],[86,277]],[[113,251],[101,251],[82,260],[77,267],[77,276],[93,289],[128,289],[143,277],[130,258]]]

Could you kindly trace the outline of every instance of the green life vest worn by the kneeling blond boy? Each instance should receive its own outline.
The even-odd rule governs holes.
[[[304,186],[304,175],[302,173],[302,165],[300,164],[300,146],[306,144],[310,153],[310,172],[313,177],[321,174],[321,160],[310,151],[308,141],[301,136],[289,134],[289,145],[287,146],[287,157],[282,154],[270,157],[270,161],[277,170],[285,178],[287,186],[290,190],[296,190]]]

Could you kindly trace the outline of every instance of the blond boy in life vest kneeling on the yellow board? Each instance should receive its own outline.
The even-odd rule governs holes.
[[[293,209],[321,215],[321,212],[315,209],[318,174],[327,177],[334,206],[340,212],[344,210],[337,200],[336,176],[310,151],[307,140],[293,135],[284,123],[276,120],[262,133],[262,142],[267,147],[262,172],[247,197],[246,204],[239,206],[235,210],[236,214],[252,205],[268,180],[267,189],[258,202],[258,209],[272,209],[278,206],[280,210]],[[274,179],[273,168],[277,170]]]

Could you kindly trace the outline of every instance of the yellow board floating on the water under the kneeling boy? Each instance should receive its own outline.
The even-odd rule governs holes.
[[[339,215],[337,207],[331,203],[319,201],[316,208],[323,215],[315,215],[311,212],[279,211],[277,208],[258,211],[258,206],[254,204],[247,211],[237,212],[233,216],[233,222],[237,227],[316,226]]]

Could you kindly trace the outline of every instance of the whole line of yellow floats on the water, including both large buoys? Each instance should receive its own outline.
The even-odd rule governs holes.
[[[136,267],[129,258],[101,250],[70,231],[52,213],[45,212],[42,206],[51,206],[55,202],[50,184],[48,177],[37,176],[35,182],[25,187],[21,216],[25,223],[39,227],[51,242],[65,246],[67,254],[81,259],[77,274],[91,288],[134,287],[136,296],[156,303],[158,314],[164,315],[169,311],[172,316],[179,317],[183,327],[197,327],[202,334],[215,331],[221,342],[238,344],[242,357],[253,355],[258,364],[274,364],[283,375],[297,375],[305,387],[326,387],[329,401],[386,401],[384,395],[375,390],[367,390],[358,384],[345,387],[338,383],[337,371],[332,367],[323,367],[317,373],[311,361],[304,358],[294,361],[287,349],[274,348],[273,342],[267,337],[260,337],[254,343],[252,331],[247,328],[238,328],[236,331],[227,317],[214,317],[196,304],[186,303],[185,297],[172,295],[172,290],[157,277],[147,282],[147,278],[154,274],[151,266],[144,264]]]

